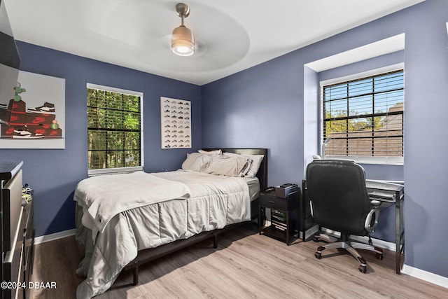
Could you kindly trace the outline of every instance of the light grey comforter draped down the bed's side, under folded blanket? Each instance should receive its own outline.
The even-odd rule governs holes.
[[[98,231],[94,234],[93,246],[88,246],[92,242],[90,230],[86,230],[80,224],[80,217],[77,217],[76,237],[87,248],[77,270],[87,279],[78,286],[77,298],[91,298],[104,293],[141,249],[186,239],[202,231],[223,228],[251,218],[249,191],[244,179],[181,170],[151,175],[157,177],[155,181],[184,184],[190,197],[174,200],[153,198],[148,204],[118,212],[102,230],[89,221],[83,221],[87,228]],[[167,186],[169,182],[165,182]],[[126,186],[123,188],[127,190],[125,197],[132,197],[132,190]],[[152,193],[151,188],[147,191]],[[97,193],[97,190],[92,192]],[[89,194],[89,191],[83,193]],[[84,209],[88,206],[81,196],[76,196],[75,200]],[[100,215],[94,217],[108,218]],[[86,231],[89,233],[85,234]]]

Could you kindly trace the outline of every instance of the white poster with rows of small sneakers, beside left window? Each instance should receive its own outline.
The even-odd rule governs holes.
[[[191,148],[191,102],[160,97],[162,149]]]

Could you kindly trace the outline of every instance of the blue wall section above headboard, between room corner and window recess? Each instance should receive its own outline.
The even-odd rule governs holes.
[[[271,186],[302,180],[303,64],[292,56],[202,86],[202,146],[269,148]]]

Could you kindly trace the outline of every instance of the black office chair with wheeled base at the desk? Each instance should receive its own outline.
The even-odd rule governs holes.
[[[359,261],[363,273],[367,263],[356,249],[374,251],[383,258],[382,249],[372,246],[369,235],[377,226],[381,202],[369,199],[363,167],[349,160],[314,160],[307,166],[307,193],[316,223],[341,234],[339,242],[322,233],[315,235],[316,242],[331,242],[318,247],[316,258],[321,258],[324,249],[343,248]],[[369,244],[352,242],[350,235],[368,236]]]

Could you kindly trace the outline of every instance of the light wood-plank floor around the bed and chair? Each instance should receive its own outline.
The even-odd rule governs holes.
[[[237,228],[140,268],[139,285],[123,272],[96,298],[448,298],[448,289],[395,274],[394,253],[383,260],[362,251],[367,273],[343,251],[323,252],[319,243],[285,243]],[[55,281],[56,289],[35,289],[31,298],[75,298],[78,249],[74,237],[38,244],[32,281]]]

